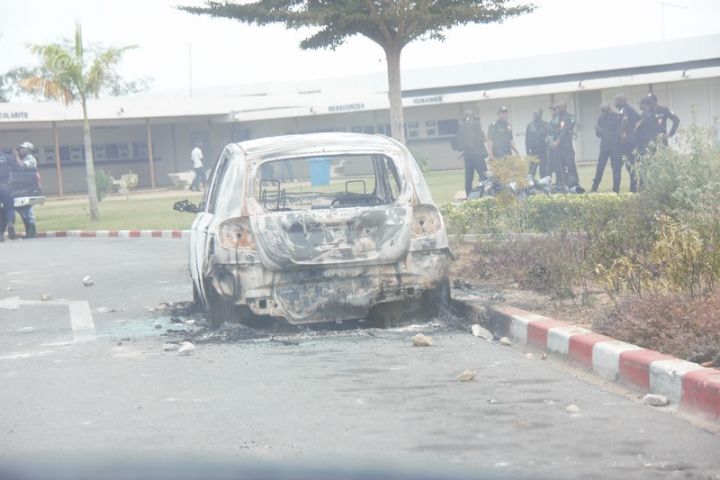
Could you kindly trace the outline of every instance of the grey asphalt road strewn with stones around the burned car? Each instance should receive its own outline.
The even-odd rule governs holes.
[[[0,459],[720,478],[711,431],[439,322],[165,352],[177,324],[150,308],[190,299],[185,248],[164,239],[0,244]],[[417,331],[434,345],[413,347]],[[476,380],[457,381],[468,368]]]

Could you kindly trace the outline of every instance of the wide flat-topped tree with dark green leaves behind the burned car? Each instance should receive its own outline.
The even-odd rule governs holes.
[[[385,52],[392,136],[404,142],[402,49],[415,40],[444,40],[445,33],[458,25],[500,23],[531,12],[535,6],[515,0],[208,0],[204,6],[178,8],[251,25],[313,28],[300,42],[303,49],[334,50],[355,35],[369,38]]]

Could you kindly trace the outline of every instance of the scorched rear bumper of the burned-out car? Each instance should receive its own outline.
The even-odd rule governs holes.
[[[260,263],[215,264],[213,287],[236,305],[293,324],[365,318],[374,305],[419,298],[447,277],[448,249],[408,253],[398,263],[267,271]]]

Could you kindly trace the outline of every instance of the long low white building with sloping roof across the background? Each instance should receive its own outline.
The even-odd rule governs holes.
[[[577,120],[578,161],[594,161],[600,103],[619,92],[636,104],[652,91],[685,125],[695,109],[698,123],[720,132],[720,35],[403,75],[407,144],[431,169],[461,167],[450,139],[468,109],[479,111],[487,126],[497,108],[507,106],[522,151],[532,110],[565,100]],[[133,170],[141,187],[161,186],[170,184],[168,173],[190,170],[195,141],[203,143],[210,163],[227,143],[248,138],[320,131],[389,133],[386,92],[385,75],[378,73],[91,101],[96,167],[115,177]],[[38,149],[47,193],[84,190],[79,106],[0,104],[0,149],[9,151],[25,140]]]

